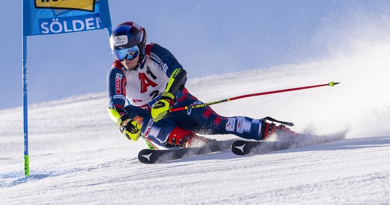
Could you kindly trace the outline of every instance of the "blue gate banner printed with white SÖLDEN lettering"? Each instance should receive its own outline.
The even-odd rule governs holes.
[[[23,0],[23,36],[110,27],[108,0]]]

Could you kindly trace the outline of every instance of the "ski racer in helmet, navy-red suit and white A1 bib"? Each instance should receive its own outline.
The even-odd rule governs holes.
[[[202,104],[185,87],[183,66],[168,49],[146,44],[145,29],[135,22],[119,24],[110,44],[115,61],[107,76],[108,111],[128,139],[142,135],[160,145],[188,147],[209,139],[195,133],[264,140],[276,130],[290,131],[265,119],[223,117],[209,106],[170,113],[171,108]]]

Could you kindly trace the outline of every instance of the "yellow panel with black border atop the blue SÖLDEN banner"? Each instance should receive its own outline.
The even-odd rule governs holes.
[[[95,0],[35,0],[35,8],[94,11]]]

